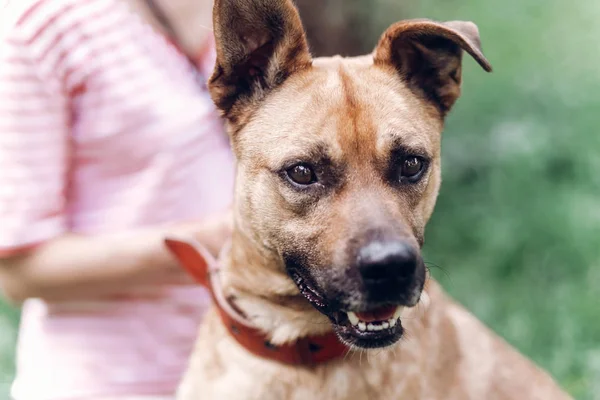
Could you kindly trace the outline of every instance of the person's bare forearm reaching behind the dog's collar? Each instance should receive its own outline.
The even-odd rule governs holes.
[[[165,247],[165,235],[194,236],[216,255],[230,228],[230,215],[224,213],[172,229],[66,234],[0,258],[0,288],[10,301],[21,303],[28,298],[86,300],[135,293],[158,283],[184,283],[190,278]]]

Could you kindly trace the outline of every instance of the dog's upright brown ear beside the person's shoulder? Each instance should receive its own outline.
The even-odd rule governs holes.
[[[291,0],[215,0],[213,22],[217,62],[209,89],[231,122],[312,64]]]

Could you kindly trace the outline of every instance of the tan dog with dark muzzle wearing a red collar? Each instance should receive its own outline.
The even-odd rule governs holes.
[[[216,0],[213,22],[234,230],[218,263],[167,241],[215,299],[177,398],[570,398],[421,257],[463,51],[492,69],[477,26],[402,21],[372,54],[312,59],[291,0]]]

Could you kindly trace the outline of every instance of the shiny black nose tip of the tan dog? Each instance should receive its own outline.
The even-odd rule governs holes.
[[[374,241],[358,253],[358,268],[367,285],[412,278],[417,264],[417,251],[403,241]]]

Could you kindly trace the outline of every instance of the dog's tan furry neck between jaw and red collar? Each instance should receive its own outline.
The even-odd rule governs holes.
[[[240,229],[221,261],[223,291],[274,345],[331,331],[286,274],[280,259]]]

